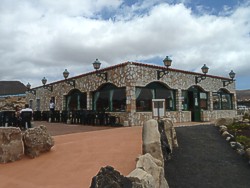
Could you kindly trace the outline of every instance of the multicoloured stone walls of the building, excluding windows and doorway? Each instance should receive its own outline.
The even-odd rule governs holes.
[[[208,93],[208,108],[201,112],[201,121],[211,121],[219,117],[232,117],[236,115],[236,92],[235,83],[223,87],[223,80],[228,78],[207,75],[205,80],[200,83],[195,83],[195,77],[202,74],[170,69],[169,74],[157,79],[157,70],[165,69],[164,67],[146,65],[141,63],[126,62],[102,69],[98,72],[107,72],[107,82],[98,77],[96,72],[82,74],[70,79],[75,80],[75,88],[87,94],[87,109],[92,109],[93,92],[98,90],[103,84],[112,83],[117,87],[126,88],[126,111],[125,112],[109,112],[112,115],[119,116],[120,123],[126,122],[129,126],[143,125],[148,119],[152,118],[152,112],[137,112],[136,111],[136,87],[145,87],[149,83],[161,83],[172,90],[175,90],[176,110],[166,111],[166,117],[172,119],[173,122],[189,122],[191,121],[191,111],[182,110],[182,91],[188,90],[195,86],[202,91]],[[56,110],[65,109],[65,96],[71,90],[75,89],[66,83],[65,80],[51,83],[53,91],[50,92],[44,89],[43,86],[33,88],[36,90],[36,95],[27,93],[27,102],[32,103],[33,110],[37,110],[39,101],[39,110],[49,109],[49,100],[51,97],[55,98]],[[213,110],[213,92],[220,89],[226,90],[230,93],[233,102],[233,109],[231,110]]]

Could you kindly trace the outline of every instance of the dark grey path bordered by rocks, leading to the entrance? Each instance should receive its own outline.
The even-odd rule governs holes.
[[[248,188],[250,167],[216,127],[177,127],[179,148],[167,162],[170,188]]]

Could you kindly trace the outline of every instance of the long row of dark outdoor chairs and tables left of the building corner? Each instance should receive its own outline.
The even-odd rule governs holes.
[[[29,117],[27,117],[29,116]],[[0,111],[0,126],[18,127],[19,123],[33,121],[47,121],[51,123],[69,123],[81,125],[102,125],[102,126],[121,126],[119,117],[111,116],[109,113],[93,110],[73,110],[73,111],[34,111],[31,117],[27,114],[19,120],[15,111]]]

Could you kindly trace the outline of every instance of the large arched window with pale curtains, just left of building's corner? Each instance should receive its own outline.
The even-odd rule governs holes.
[[[126,89],[105,84],[93,93],[93,109],[97,111],[125,111]]]

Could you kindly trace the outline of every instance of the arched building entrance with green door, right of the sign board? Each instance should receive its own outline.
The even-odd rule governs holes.
[[[201,121],[201,110],[208,108],[208,94],[201,87],[192,86],[187,90],[188,110],[192,121]]]

